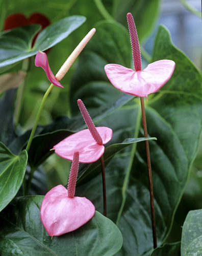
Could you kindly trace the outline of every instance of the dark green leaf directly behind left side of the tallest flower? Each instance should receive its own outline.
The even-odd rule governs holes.
[[[80,113],[77,106],[78,98],[85,100],[86,108],[91,111],[105,106],[121,95],[109,83],[104,70],[105,65],[118,63],[130,68],[132,51],[127,29],[118,23],[106,21],[95,24],[95,28],[96,33],[82,51],[78,69],[71,81],[72,115]]]

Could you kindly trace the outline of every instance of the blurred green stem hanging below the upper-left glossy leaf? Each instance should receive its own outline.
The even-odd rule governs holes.
[[[21,113],[21,109],[22,109],[22,103],[23,103],[23,98],[24,98],[24,93],[25,93],[25,88],[26,85],[28,83],[29,80],[29,76],[30,76],[30,71],[31,71],[31,66],[32,66],[32,58],[27,58],[24,59],[22,62],[22,71],[26,72],[27,75],[24,78],[22,84],[20,85],[20,87],[17,90],[17,96],[16,96],[16,103],[15,103],[15,112],[14,112],[14,116],[15,116],[15,129],[18,125],[19,122],[19,117],[20,117],[20,113]]]

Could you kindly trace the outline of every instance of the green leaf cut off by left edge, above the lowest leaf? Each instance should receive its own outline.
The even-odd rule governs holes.
[[[15,156],[0,142],[0,211],[17,194],[26,172],[27,160],[27,151]]]

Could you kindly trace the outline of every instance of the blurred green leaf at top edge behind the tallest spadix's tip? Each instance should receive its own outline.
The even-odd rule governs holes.
[[[127,25],[128,12],[131,12],[137,27],[138,38],[141,42],[154,28],[160,11],[160,0],[127,0],[114,1],[113,16],[121,24]]]

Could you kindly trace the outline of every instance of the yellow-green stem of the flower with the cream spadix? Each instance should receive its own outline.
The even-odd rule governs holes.
[[[39,111],[37,113],[37,116],[36,116],[36,119],[35,119],[35,122],[34,122],[34,126],[33,126],[33,129],[32,129],[32,133],[30,135],[30,138],[29,138],[29,141],[28,141],[28,144],[27,144],[27,147],[26,147],[26,150],[27,152],[29,151],[30,149],[30,146],[31,146],[31,143],[32,143],[32,140],[33,140],[33,137],[34,137],[34,134],[35,134],[35,131],[36,131],[36,127],[37,127],[37,124],[39,122],[39,118],[41,116],[41,112],[43,110],[43,106],[45,104],[45,101],[47,99],[47,96],[48,94],[50,93],[50,91],[54,88],[54,84],[50,84],[49,88],[47,89],[46,93],[44,94],[43,96],[43,99],[41,101],[41,105],[39,107]],[[32,179],[33,177],[33,172],[30,173],[30,178]],[[31,180],[29,179],[29,184],[28,184],[28,189],[29,189],[29,185],[31,184]],[[27,193],[29,193],[28,189],[26,189],[26,178],[24,176],[24,179],[23,179],[23,184],[22,184],[22,187],[23,187],[23,196],[25,196]]]

